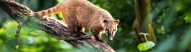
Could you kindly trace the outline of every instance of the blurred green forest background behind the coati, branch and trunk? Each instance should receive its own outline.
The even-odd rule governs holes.
[[[62,0],[16,0],[33,11],[55,6]],[[103,39],[117,52],[139,52],[139,41],[135,35],[134,0],[89,0],[109,11],[120,20],[113,41]],[[165,6],[165,7],[163,7]],[[151,0],[153,30],[157,38],[155,52],[191,52],[191,0]],[[51,17],[62,20],[61,14]],[[0,52],[79,52],[68,43],[56,40],[47,33],[23,27],[15,49],[14,35],[18,24],[0,8]],[[91,34],[89,30],[86,33]],[[85,50],[85,49],[84,49]],[[81,50],[83,51],[83,50]],[[88,51],[87,51],[88,52]],[[151,50],[145,51],[151,52]]]

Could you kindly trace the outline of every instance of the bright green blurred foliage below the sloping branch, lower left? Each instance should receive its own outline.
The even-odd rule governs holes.
[[[20,47],[15,49],[14,35],[17,28],[16,22],[4,23],[0,29],[0,48],[1,52],[47,52],[47,51],[72,51],[72,46],[64,41],[58,41],[50,38],[45,32],[23,27],[21,29],[19,44]],[[48,48],[47,48],[48,47]]]

